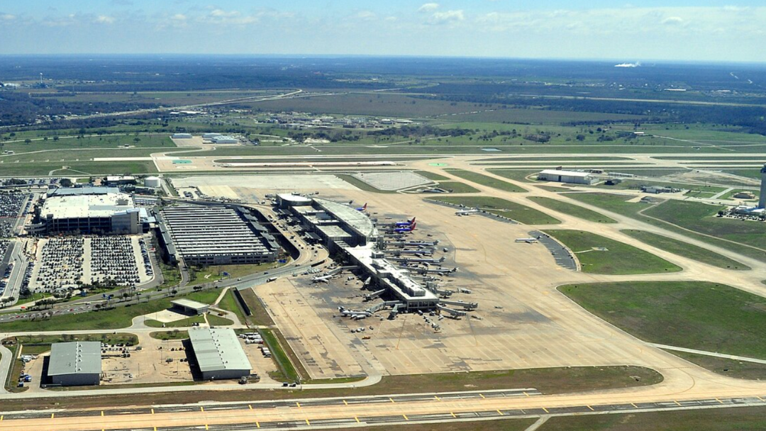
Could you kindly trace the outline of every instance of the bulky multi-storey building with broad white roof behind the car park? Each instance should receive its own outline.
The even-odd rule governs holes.
[[[141,233],[146,211],[119,188],[57,188],[36,209],[31,233]]]

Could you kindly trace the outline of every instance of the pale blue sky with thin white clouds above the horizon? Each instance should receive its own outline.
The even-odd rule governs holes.
[[[0,54],[764,62],[763,0],[0,0]]]

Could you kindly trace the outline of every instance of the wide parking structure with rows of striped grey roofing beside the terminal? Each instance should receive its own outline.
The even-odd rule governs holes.
[[[169,260],[231,265],[277,260],[279,245],[249,214],[222,205],[165,207],[157,217]]]

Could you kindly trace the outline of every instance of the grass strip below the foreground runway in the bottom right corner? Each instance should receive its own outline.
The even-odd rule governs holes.
[[[466,428],[468,429],[468,428]],[[486,428],[487,431],[500,431]],[[552,417],[539,431],[761,431],[766,408],[686,410]],[[456,430],[457,431],[457,430]]]

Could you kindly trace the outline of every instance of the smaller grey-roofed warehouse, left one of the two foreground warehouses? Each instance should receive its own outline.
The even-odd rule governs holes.
[[[47,376],[61,386],[97,385],[101,380],[100,341],[51,344]]]

